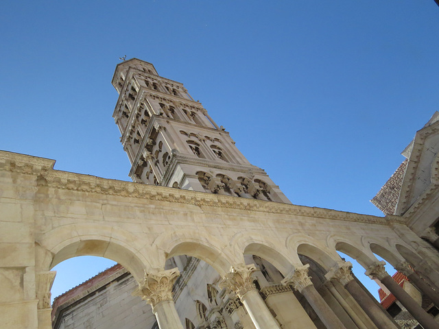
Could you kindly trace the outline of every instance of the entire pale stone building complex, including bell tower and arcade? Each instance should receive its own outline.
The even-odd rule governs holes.
[[[291,204],[152,64],[127,60],[112,84],[133,183],[0,152],[5,328],[400,328],[337,251],[388,289],[416,326],[439,328],[375,257],[439,305],[436,116],[375,200],[394,202],[394,212],[375,217]],[[50,269],[82,255],[123,267],[60,296],[52,313]]]

